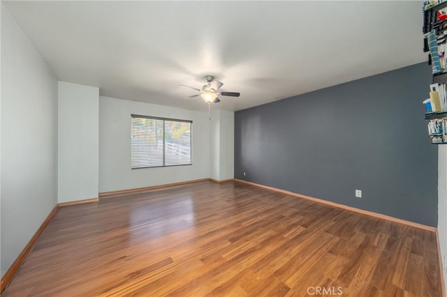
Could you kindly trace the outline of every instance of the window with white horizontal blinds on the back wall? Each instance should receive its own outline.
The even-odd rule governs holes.
[[[132,169],[191,165],[192,123],[132,114]]]

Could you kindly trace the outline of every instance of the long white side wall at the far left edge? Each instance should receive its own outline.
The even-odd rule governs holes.
[[[1,4],[1,275],[57,204],[57,79]]]

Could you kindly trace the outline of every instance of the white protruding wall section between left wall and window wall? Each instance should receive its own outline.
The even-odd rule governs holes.
[[[98,197],[99,89],[59,82],[59,203]]]

